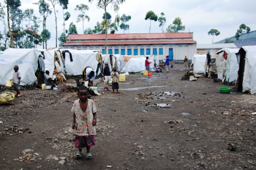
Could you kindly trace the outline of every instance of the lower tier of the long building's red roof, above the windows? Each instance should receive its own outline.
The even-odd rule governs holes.
[[[191,44],[196,41],[136,41],[136,42],[108,42],[108,45],[132,45],[132,44]],[[105,42],[65,42],[62,45],[105,45]]]

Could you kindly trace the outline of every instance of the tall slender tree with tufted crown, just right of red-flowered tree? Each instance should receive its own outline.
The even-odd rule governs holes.
[[[43,16],[43,31],[46,30],[46,19],[49,15],[51,15],[52,11],[50,10],[50,5],[45,2],[45,0],[39,0],[38,3],[34,3],[36,5],[39,5],[39,13]],[[45,48],[47,39],[42,36],[43,40],[43,48],[44,48],[44,42],[45,42]]]

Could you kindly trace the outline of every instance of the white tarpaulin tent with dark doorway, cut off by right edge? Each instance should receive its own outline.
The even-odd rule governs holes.
[[[250,91],[251,94],[256,94],[256,45],[253,46],[243,46],[238,52],[241,53],[244,50],[245,60],[244,60],[244,72],[243,72],[243,92]],[[243,58],[241,58],[243,59]],[[241,69],[241,65],[239,71]]]

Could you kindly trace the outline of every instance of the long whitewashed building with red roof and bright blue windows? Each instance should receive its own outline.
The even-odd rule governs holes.
[[[108,34],[105,51],[105,34],[72,34],[62,44],[64,49],[98,49],[102,54],[121,55],[166,55],[172,60],[192,59],[196,53],[193,33],[145,33]]]

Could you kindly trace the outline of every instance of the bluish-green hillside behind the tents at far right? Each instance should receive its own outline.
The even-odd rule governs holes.
[[[244,44],[242,44],[242,37],[239,40],[236,40],[235,36],[227,38],[227,40],[233,40],[234,44],[237,47],[246,46],[246,45],[256,45],[256,31],[251,31],[249,33],[245,33],[243,35]],[[221,40],[219,42],[214,43],[225,43],[225,40]]]

